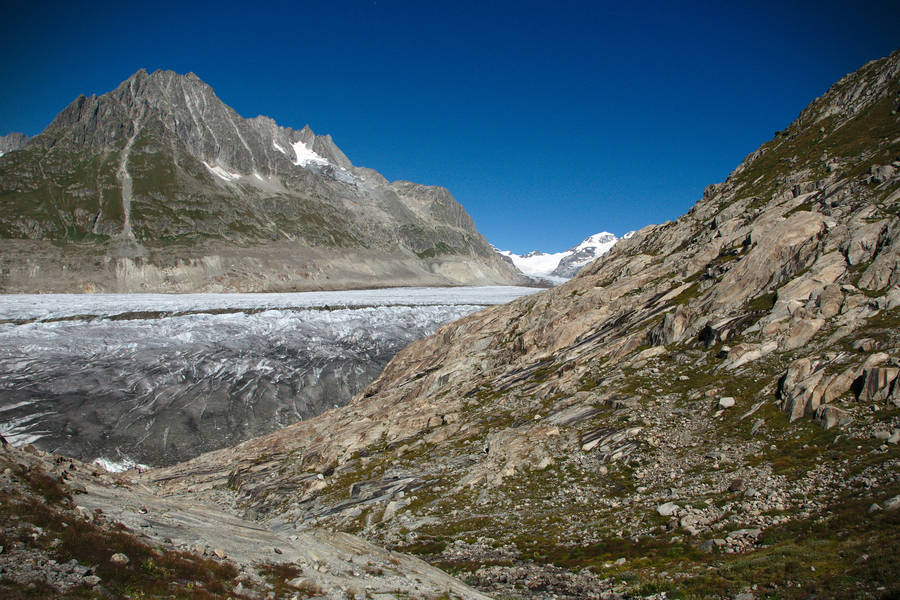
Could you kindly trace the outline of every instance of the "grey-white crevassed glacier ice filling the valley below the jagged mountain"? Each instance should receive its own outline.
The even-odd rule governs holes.
[[[346,404],[410,342],[534,291],[0,295],[0,434],[172,464]]]

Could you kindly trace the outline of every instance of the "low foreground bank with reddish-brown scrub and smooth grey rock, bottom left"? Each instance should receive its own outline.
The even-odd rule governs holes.
[[[0,491],[3,598],[488,598],[352,535],[265,528],[2,438]]]

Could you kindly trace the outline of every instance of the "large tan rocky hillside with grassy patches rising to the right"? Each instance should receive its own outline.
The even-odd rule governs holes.
[[[504,597],[900,593],[898,110],[895,52],[568,283],[142,481]]]

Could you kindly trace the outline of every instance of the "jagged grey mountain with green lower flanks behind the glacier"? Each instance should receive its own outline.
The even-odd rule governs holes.
[[[0,156],[0,291],[518,283],[444,188],[139,71]],[[23,145],[24,143],[24,145]]]

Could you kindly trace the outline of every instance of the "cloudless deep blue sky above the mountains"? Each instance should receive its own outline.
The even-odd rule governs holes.
[[[10,2],[0,134],[143,67],[443,185],[495,245],[684,213],[816,96],[900,47],[900,2]]]

